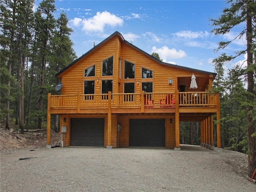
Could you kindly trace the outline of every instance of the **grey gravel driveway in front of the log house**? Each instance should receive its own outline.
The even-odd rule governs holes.
[[[38,147],[2,150],[0,160],[1,192],[256,192],[244,154],[200,146]]]

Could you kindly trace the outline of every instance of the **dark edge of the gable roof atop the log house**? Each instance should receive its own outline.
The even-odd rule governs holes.
[[[94,50],[96,50],[98,47],[100,47],[102,44],[104,44],[105,42],[107,42],[109,39],[111,39],[112,37],[118,35],[123,42],[125,42],[126,44],[132,46],[134,49],[138,50],[139,52],[141,52],[142,54],[152,58],[153,60],[155,60],[156,62],[158,62],[159,64],[162,65],[167,65],[167,66],[172,66],[174,68],[180,68],[180,69],[185,69],[185,70],[191,70],[194,72],[200,72],[200,73],[205,73],[205,74],[209,74],[209,75],[213,75],[214,77],[217,75],[216,73],[213,72],[207,72],[207,71],[203,71],[203,70],[198,70],[198,69],[194,69],[194,68],[189,68],[189,67],[184,67],[184,66],[179,66],[179,65],[175,65],[175,64],[170,64],[170,63],[166,63],[166,62],[162,62],[160,60],[158,60],[157,58],[153,57],[152,55],[148,54],[147,52],[141,50],[140,48],[134,46],[133,44],[129,43],[128,41],[126,41],[124,39],[124,37],[122,36],[122,34],[118,31],[114,32],[113,34],[111,34],[108,38],[106,38],[105,40],[103,40],[102,42],[100,42],[99,44],[97,44],[96,46],[94,46],[92,49],[90,49],[88,52],[86,52],[85,54],[83,54],[82,56],[80,56],[78,59],[74,60],[71,64],[69,64],[68,66],[66,66],[65,68],[63,68],[62,70],[60,70],[60,72],[58,72],[55,76],[59,76],[60,74],[62,74],[63,72],[65,72],[66,70],[68,70],[68,68],[70,68],[71,66],[73,66],[74,64],[76,64],[78,61],[82,60],[83,58],[85,58],[88,54],[90,54],[91,52],[93,52]]]

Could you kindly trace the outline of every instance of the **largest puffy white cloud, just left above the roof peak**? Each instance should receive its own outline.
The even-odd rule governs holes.
[[[122,26],[123,20],[107,11],[97,12],[92,18],[82,20],[82,30],[86,32],[104,32],[105,26]]]

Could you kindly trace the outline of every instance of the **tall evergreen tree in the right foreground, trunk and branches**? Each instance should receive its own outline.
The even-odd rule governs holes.
[[[256,90],[255,90],[255,39],[256,39],[256,1],[233,1],[229,0],[229,8],[224,8],[223,14],[217,19],[211,19],[214,28],[212,32],[217,34],[226,34],[230,32],[235,26],[241,23],[246,23],[246,28],[240,32],[234,39],[246,36],[247,44],[246,49],[234,52],[232,56],[220,56],[219,60],[222,62],[233,60],[240,55],[247,54],[247,93],[244,94],[244,106],[247,113],[248,120],[248,176],[252,176],[256,164],[256,133],[255,133],[255,103],[256,103]],[[226,48],[232,41],[219,42],[218,50]],[[218,51],[217,50],[217,51]],[[254,58],[254,60],[253,60]]]

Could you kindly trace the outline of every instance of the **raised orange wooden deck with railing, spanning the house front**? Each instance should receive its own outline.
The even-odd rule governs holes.
[[[51,114],[108,113],[109,108],[112,113],[175,113],[177,107],[181,113],[216,112],[217,103],[209,92],[48,94]]]

